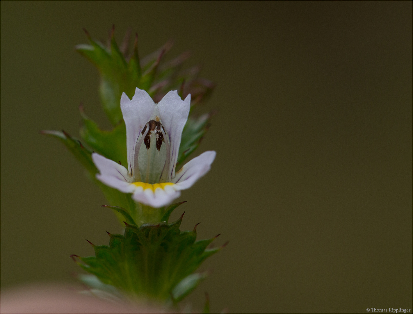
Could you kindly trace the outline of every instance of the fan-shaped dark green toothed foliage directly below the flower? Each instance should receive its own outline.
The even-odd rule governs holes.
[[[125,223],[124,235],[109,234],[109,246],[92,244],[95,256],[78,257],[78,264],[131,297],[179,302],[207,276],[192,272],[223,248],[208,249],[216,237],[196,241],[196,226],[181,232],[181,222],[182,216],[171,224]]]

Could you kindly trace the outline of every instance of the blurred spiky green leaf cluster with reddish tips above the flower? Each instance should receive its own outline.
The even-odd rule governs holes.
[[[92,62],[100,72],[100,99],[112,125],[118,125],[122,121],[120,109],[122,93],[125,92],[129,98],[132,98],[136,87],[146,90],[155,102],[159,102],[170,90],[180,90],[183,97],[191,94],[192,106],[209,98],[214,90],[213,83],[198,78],[199,67],[180,71],[183,62],[190,56],[188,52],[162,63],[164,54],[173,45],[172,42],[167,42],[157,51],[140,60],[137,34],[135,34],[132,52],[129,53],[130,31],[126,33],[120,48],[114,38],[114,28],[108,47],[90,37],[87,31],[85,32],[89,44],[77,45],[76,50]]]

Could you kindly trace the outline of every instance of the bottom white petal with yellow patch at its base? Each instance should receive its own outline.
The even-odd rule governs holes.
[[[168,205],[179,196],[180,191],[176,191],[174,186],[166,186],[164,189],[157,188],[155,192],[152,189],[144,190],[142,187],[137,187],[132,198],[139,203],[159,208]]]

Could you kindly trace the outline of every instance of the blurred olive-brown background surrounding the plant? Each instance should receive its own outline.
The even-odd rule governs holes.
[[[114,214],[42,129],[102,127],[85,27],[217,85],[197,154],[212,170],[179,199],[181,229],[230,244],[188,302],[213,312],[412,308],[412,2],[1,3],[1,285],[71,282],[71,254],[108,243]]]

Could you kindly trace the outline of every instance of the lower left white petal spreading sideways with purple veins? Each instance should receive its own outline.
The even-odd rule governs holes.
[[[135,188],[128,182],[129,174],[125,167],[98,153],[93,153],[92,159],[100,171],[100,174],[96,175],[98,180],[123,193],[133,193],[135,191]]]

